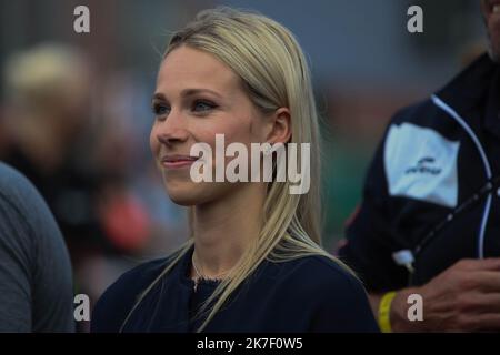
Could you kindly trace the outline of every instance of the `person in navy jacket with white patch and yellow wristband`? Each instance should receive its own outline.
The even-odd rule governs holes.
[[[489,53],[396,114],[339,251],[383,332],[500,331],[500,1],[480,4]]]

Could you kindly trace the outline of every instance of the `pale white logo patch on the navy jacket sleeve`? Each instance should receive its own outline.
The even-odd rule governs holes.
[[[460,142],[412,123],[392,124],[383,161],[389,194],[457,206]]]

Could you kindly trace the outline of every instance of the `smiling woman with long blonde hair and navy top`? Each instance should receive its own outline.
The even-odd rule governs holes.
[[[377,331],[360,282],[320,246],[318,114],[293,36],[253,12],[200,12],[172,37],[152,106],[151,149],[170,199],[190,206],[192,235],[111,285],[92,331]],[[216,151],[216,134],[249,151],[308,143],[307,193],[276,179],[194,182],[191,149]]]

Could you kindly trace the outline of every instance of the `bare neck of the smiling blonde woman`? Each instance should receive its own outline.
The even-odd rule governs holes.
[[[234,267],[262,226],[266,185],[237,187],[218,201],[194,207],[193,258],[208,278],[220,278]]]

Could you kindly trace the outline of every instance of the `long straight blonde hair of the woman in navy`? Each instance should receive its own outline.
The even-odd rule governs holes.
[[[224,302],[259,264],[323,255],[340,263],[321,245],[320,133],[310,71],[299,43],[283,26],[256,12],[220,7],[203,10],[194,21],[174,33],[164,57],[180,45],[211,53],[237,73],[253,104],[263,113],[286,106],[291,113],[292,143],[310,143],[310,190],[290,194],[290,182],[271,182],[263,205],[259,236],[238,265],[204,302],[202,331]],[[300,155],[300,154],[299,154]],[[302,166],[301,161],[298,165]],[[182,245],[156,281],[139,296],[138,304],[193,245]],[[213,306],[209,306],[213,304]],[[121,328],[121,329],[122,329]]]

